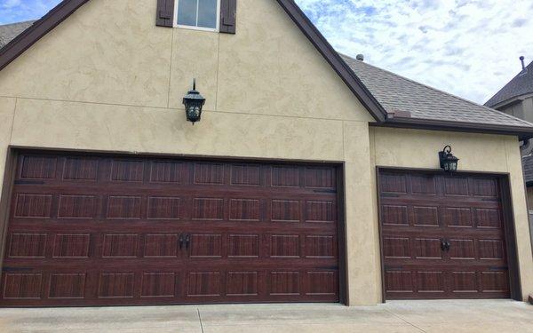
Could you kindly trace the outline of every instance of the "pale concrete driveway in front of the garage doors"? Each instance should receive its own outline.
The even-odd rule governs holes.
[[[510,300],[342,305],[0,309],[0,332],[533,332],[533,305]]]

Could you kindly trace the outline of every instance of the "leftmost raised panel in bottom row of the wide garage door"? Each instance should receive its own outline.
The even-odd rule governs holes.
[[[43,274],[4,274],[4,299],[39,299]]]

